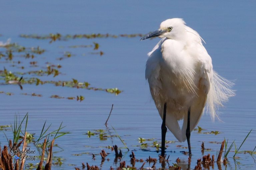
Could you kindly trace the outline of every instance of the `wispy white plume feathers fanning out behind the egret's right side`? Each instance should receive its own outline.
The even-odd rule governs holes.
[[[207,113],[210,112],[213,121],[215,118],[220,120],[217,111],[218,107],[223,106],[223,102],[227,102],[229,97],[235,96],[235,90],[231,89],[233,85],[234,83],[232,81],[225,79],[213,71],[213,79],[206,102],[206,111]]]

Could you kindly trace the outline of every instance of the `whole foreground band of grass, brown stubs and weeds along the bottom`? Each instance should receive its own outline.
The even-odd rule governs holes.
[[[4,158],[0,158],[2,161],[2,164],[0,164],[0,169],[3,169],[1,166],[5,167],[11,167],[15,166],[15,169],[22,169],[22,167],[26,167],[26,169],[44,169],[44,170],[49,170],[53,168],[52,166],[63,166],[63,163],[66,161],[61,157],[56,157],[54,154],[58,153],[56,150],[59,150],[61,148],[60,145],[54,144],[55,140],[63,135],[68,134],[69,132],[62,131],[65,126],[62,126],[62,123],[60,126],[53,131],[50,131],[50,127],[46,126],[46,121],[44,122],[42,126],[42,130],[40,134],[35,134],[35,133],[29,133],[27,131],[27,127],[29,126],[29,115],[28,113],[23,117],[23,119],[19,120],[18,115],[15,114],[14,118],[14,124],[5,125],[5,126],[0,126],[1,128],[11,128],[12,134],[13,134],[13,139],[9,139],[8,136],[6,135],[7,143],[8,146],[4,146],[2,155]],[[113,128],[113,127],[112,127]],[[252,131],[252,130],[251,130]],[[250,131],[250,132],[251,132]],[[113,135],[112,133],[115,132],[116,135]],[[239,149],[242,147],[244,142],[246,141],[247,137],[249,136],[250,132],[247,134],[245,139],[243,140],[242,144],[238,149],[235,148],[233,152],[236,154],[244,154],[244,153],[249,153],[253,156],[253,154],[256,154],[255,148],[252,151],[239,151]],[[5,134],[5,133],[4,133]],[[98,153],[95,152],[88,152],[88,151],[82,151],[79,153],[71,154],[72,156],[78,156],[78,159],[81,159],[82,164],[80,166],[75,165],[75,164],[69,164],[69,166],[74,167],[75,169],[85,169],[87,168],[88,170],[90,169],[117,169],[117,170],[124,170],[124,169],[171,169],[171,170],[180,170],[183,169],[184,165],[188,167],[188,169],[193,169],[194,170],[200,170],[200,169],[215,169],[215,166],[217,166],[217,169],[222,169],[222,166],[227,168],[230,166],[230,162],[227,159],[227,155],[230,151],[232,151],[232,146],[234,142],[231,144],[231,147],[227,149],[228,145],[228,140],[224,140],[221,143],[220,150],[217,151],[217,155],[214,155],[212,152],[212,149],[206,149],[204,142],[202,142],[201,145],[201,152],[202,152],[202,157],[198,157],[196,164],[195,164],[195,158],[192,159],[193,157],[190,157],[187,152],[185,151],[180,151],[180,152],[175,152],[175,151],[170,151],[169,153],[166,153],[164,157],[158,156],[158,157],[151,157],[149,156],[140,156],[139,158],[136,156],[137,153],[137,148],[139,147],[141,150],[145,150],[147,147],[155,148],[155,150],[158,152],[160,146],[160,142],[154,138],[152,139],[146,139],[143,137],[139,137],[139,143],[141,143],[141,146],[133,146],[132,151],[129,151],[128,147],[124,143],[123,139],[121,139],[121,136],[117,134],[117,131],[113,128],[113,131],[111,132],[107,125],[106,129],[96,129],[96,130],[88,130],[87,133],[85,133],[88,138],[94,137],[94,138],[99,138],[101,141],[107,141],[107,140],[112,140],[116,141],[113,138],[119,138],[120,141],[124,144],[124,148],[118,148],[117,145],[113,146],[98,146]],[[42,142],[42,140],[44,140]],[[56,140],[57,141],[57,140]],[[144,143],[147,142],[147,143]],[[173,144],[175,145],[176,141],[166,141],[166,143]],[[39,163],[31,163],[29,160],[33,158],[30,153],[27,153],[27,155],[30,154],[30,157],[28,158],[22,158],[22,154],[19,154],[17,152],[17,157],[19,159],[15,160],[15,154],[12,154],[12,149],[13,147],[19,148],[23,143],[23,150],[27,148],[27,144],[32,143],[33,147],[38,149],[39,153],[41,156],[36,156],[36,160],[38,160]],[[217,143],[217,147],[219,147],[220,142],[213,142]],[[225,146],[224,146],[225,145]],[[31,148],[31,146],[29,146]],[[93,148],[95,146],[86,146],[89,148]],[[168,147],[168,146],[167,146]],[[172,146],[173,147],[173,146]],[[182,149],[186,147],[182,147],[182,145],[176,145],[177,149]],[[128,151],[124,152],[124,149],[127,148]],[[224,153],[224,160],[221,160],[222,157],[222,152],[225,148],[225,153]],[[105,151],[106,149],[107,151]],[[215,148],[216,149],[216,148]],[[53,150],[55,150],[53,152]],[[213,149],[214,150],[214,149]],[[147,150],[145,150],[147,151]],[[210,152],[207,154],[204,154],[204,152]],[[146,152],[145,152],[146,153]],[[150,152],[147,152],[150,154]],[[174,153],[174,155],[172,154]],[[45,155],[46,154],[46,155]],[[130,156],[127,156],[127,154]],[[184,154],[185,158],[181,158],[181,154]],[[90,160],[82,160],[80,156],[82,155],[88,155],[91,156],[91,159],[96,163],[98,162],[99,164],[96,165],[91,165]],[[239,159],[237,156],[233,156],[231,158],[236,161]],[[216,157],[215,157],[216,156]],[[9,158],[13,162],[6,162],[5,157]],[[34,156],[35,157],[35,156]],[[173,157],[176,157],[175,159]],[[20,161],[19,161],[20,160]],[[24,161],[23,161],[24,160]],[[40,160],[40,161],[39,161]],[[114,161],[114,165],[116,168],[113,168],[112,166],[106,167],[103,166],[104,162],[111,162]],[[87,163],[83,163],[83,161],[86,161]],[[88,163],[89,162],[89,163]],[[1,162],[0,162],[1,163]],[[118,164],[117,164],[118,163]],[[43,166],[45,164],[45,166]],[[5,168],[6,169],[6,168]],[[10,169],[10,168],[9,168]],[[55,168],[54,168],[55,169]]]

